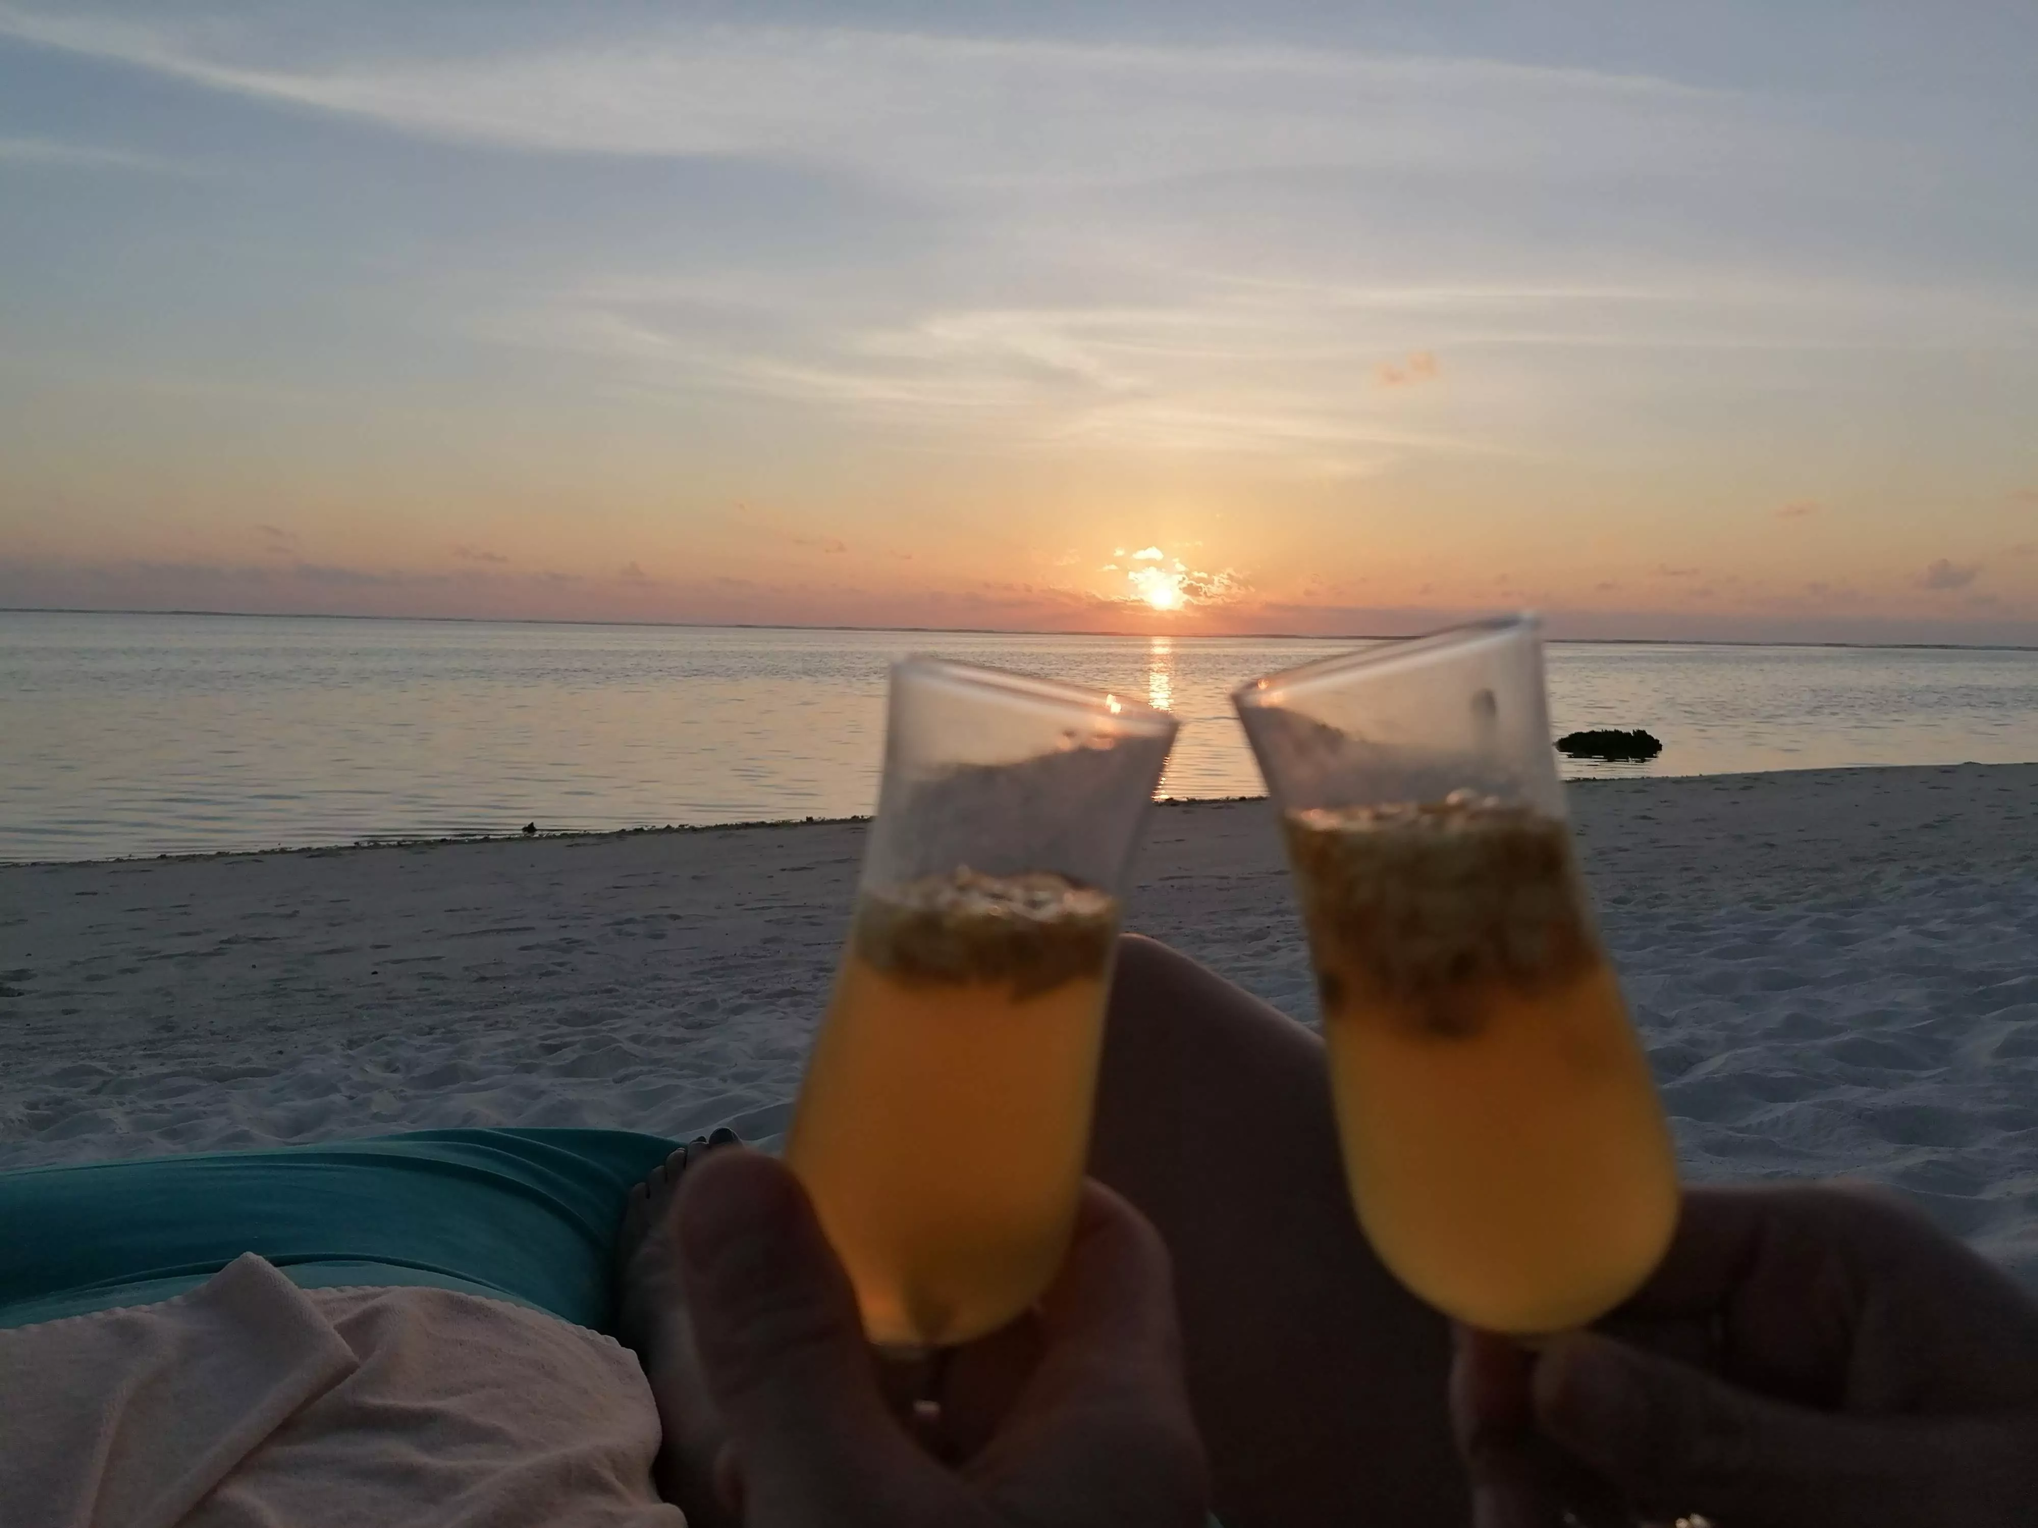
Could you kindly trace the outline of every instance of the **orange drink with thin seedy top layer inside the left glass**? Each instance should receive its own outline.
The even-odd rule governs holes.
[[[966,1343],[1068,1251],[1119,903],[1058,874],[866,890],[787,1161],[870,1341]]]

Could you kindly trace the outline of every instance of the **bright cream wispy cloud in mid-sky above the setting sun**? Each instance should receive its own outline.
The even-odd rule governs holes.
[[[1156,281],[1149,271],[1096,279]],[[1327,314],[1306,289],[1223,277],[1168,285],[1143,306],[927,306],[860,322],[860,304],[811,306],[791,287],[772,302],[707,283],[593,281],[487,332],[605,357],[646,387],[732,391],[950,438],[995,434],[1005,448],[1241,454],[1300,473],[1365,473],[1410,450],[1504,450],[1351,397],[1349,377],[1380,350],[1376,314]]]

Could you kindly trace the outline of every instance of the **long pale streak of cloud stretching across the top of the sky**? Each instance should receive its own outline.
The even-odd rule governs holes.
[[[467,57],[306,57],[285,8],[137,22],[0,6],[0,35],[410,132],[611,155],[1115,183],[1268,163],[1632,163],[1708,94],[1661,77],[1264,45],[1156,47],[671,22]],[[298,39],[291,57],[281,39]],[[289,61],[283,61],[283,59]],[[1241,110],[1243,108],[1243,110]],[[1730,126],[1730,120],[1722,126]],[[1581,163],[1581,161],[1573,161]]]

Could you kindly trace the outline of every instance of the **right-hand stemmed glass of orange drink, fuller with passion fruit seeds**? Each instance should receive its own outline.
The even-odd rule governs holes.
[[[1661,1259],[1677,1184],[1571,856],[1535,621],[1233,701],[1280,811],[1367,1239],[1473,1326],[1594,1320]]]

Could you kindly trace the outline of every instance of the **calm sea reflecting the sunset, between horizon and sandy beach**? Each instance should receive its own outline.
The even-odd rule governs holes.
[[[884,666],[1058,674],[1184,721],[1162,795],[1257,795],[1233,685],[1357,644],[0,611],[0,860],[870,811]],[[2038,760],[2038,652],[1557,644],[1634,770]]]

